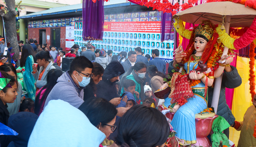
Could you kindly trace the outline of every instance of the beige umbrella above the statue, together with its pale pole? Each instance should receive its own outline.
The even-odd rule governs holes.
[[[255,26],[255,24],[252,24],[255,16],[256,11],[254,9],[248,6],[245,7],[243,4],[225,1],[200,4],[173,15],[173,18],[178,18],[178,20],[181,19],[191,24],[200,24],[201,20],[210,19],[215,24],[222,24],[221,29],[226,28],[226,33],[228,33],[229,27],[250,27],[251,25]],[[251,35],[251,38],[254,37],[255,39],[256,36],[254,35],[255,34]],[[240,39],[242,39],[242,37]],[[252,42],[252,40],[247,41]],[[227,53],[228,48],[225,47],[222,56],[227,55]],[[219,103],[221,81],[222,75],[215,79],[215,86],[213,90],[211,107],[214,107],[216,112]]]

